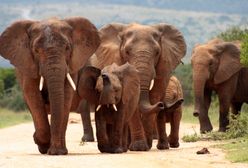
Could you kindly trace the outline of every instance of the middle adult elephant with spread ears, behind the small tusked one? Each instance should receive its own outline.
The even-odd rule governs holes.
[[[118,65],[129,62],[139,71],[141,113],[146,115],[144,128],[140,114],[131,120],[130,150],[151,148],[153,121],[156,113],[163,109],[163,97],[171,72],[181,62],[186,53],[183,35],[174,26],[168,24],[141,25],[112,23],[100,29],[101,44],[90,64],[102,69],[115,62]],[[150,84],[154,87],[149,91]],[[86,117],[83,117],[86,118]],[[84,119],[83,119],[84,120]],[[89,120],[89,119],[88,119]],[[84,122],[84,121],[83,121]],[[88,129],[90,130],[90,129]]]

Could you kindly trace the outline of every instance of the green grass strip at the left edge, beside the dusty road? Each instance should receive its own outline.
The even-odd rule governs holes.
[[[0,109],[0,128],[32,121],[31,114],[27,111],[14,112],[8,109]]]

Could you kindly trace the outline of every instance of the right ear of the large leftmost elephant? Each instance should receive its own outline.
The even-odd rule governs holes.
[[[100,37],[96,27],[85,18],[74,17],[65,21],[73,28],[73,51],[69,67],[71,73],[76,73],[96,51],[100,45]]]

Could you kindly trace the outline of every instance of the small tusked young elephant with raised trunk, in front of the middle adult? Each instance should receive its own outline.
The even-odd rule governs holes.
[[[136,111],[140,80],[134,66],[115,63],[100,70],[85,67],[79,77],[78,93],[95,105],[98,149],[107,153],[127,151],[128,122]]]

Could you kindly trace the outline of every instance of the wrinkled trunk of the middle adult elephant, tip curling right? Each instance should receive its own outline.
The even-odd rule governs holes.
[[[149,98],[149,88],[152,79],[155,78],[154,64],[150,60],[151,56],[146,52],[138,52],[133,65],[139,71],[140,76],[140,100],[139,109],[142,113],[157,113],[164,109],[162,102],[151,105]]]

